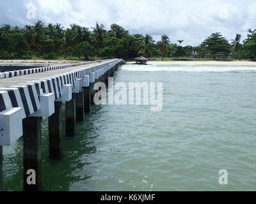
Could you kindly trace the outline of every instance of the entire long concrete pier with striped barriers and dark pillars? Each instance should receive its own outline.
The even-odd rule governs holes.
[[[65,135],[76,136],[95,95],[122,64],[111,59],[4,73],[0,79],[0,191],[3,189],[2,146],[24,140],[24,190],[41,189],[41,122],[48,117],[49,157],[61,157],[61,105],[65,102]],[[11,78],[10,78],[11,77]]]

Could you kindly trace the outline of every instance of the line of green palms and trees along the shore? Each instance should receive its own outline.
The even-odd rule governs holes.
[[[3,24],[0,27],[0,57],[211,57],[232,53],[236,58],[256,58],[256,29],[248,30],[246,40],[236,34],[231,43],[220,33],[212,33],[199,46],[182,46],[183,40],[171,43],[166,35],[161,41],[152,36],[130,34],[124,27],[112,24],[107,31],[102,24],[87,28],[72,24],[47,24],[38,20],[23,28]]]

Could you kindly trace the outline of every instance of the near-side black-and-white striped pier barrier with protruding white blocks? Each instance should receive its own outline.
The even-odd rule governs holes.
[[[89,87],[90,83],[94,83],[120,62],[122,59],[116,59],[100,66],[81,68],[0,89],[0,145],[8,146],[23,135],[22,119],[51,116],[54,113],[54,101],[70,101],[72,93],[79,93],[83,87]],[[25,73],[27,70],[22,72]]]

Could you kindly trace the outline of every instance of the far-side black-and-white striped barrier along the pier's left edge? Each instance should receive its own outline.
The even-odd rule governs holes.
[[[65,68],[70,68],[70,67],[74,67],[74,66],[81,66],[81,65],[85,65],[85,64],[92,64],[95,62],[102,62],[102,61],[107,61],[107,60],[81,62],[81,63],[76,63],[76,64],[63,64],[63,65],[59,65],[59,66],[48,66],[48,67],[43,67],[43,68],[21,69],[21,70],[15,70],[15,71],[4,71],[4,72],[0,73],[0,79],[1,78],[18,77],[18,76],[22,76],[22,75],[30,75],[33,73],[42,73],[45,71],[52,71],[55,69],[65,69]]]

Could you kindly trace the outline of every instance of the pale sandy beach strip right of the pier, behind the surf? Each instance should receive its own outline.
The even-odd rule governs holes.
[[[135,61],[126,62],[134,64]],[[256,66],[253,61],[148,61],[148,65]]]

